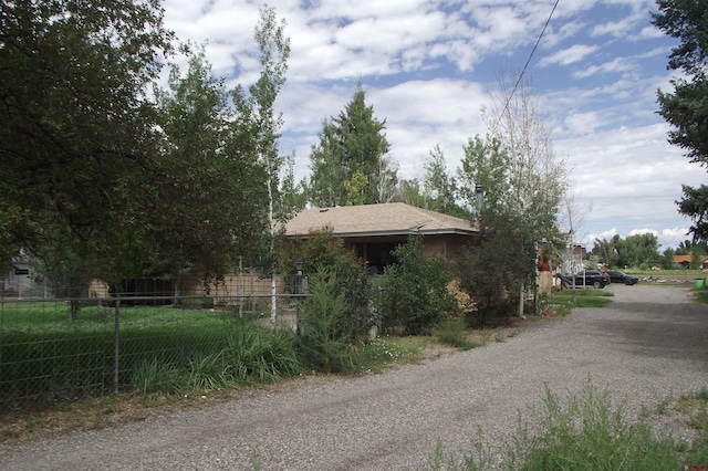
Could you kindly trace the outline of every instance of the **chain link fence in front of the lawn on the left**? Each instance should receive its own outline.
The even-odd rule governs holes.
[[[270,281],[238,274],[230,282],[185,280],[180,290],[190,295],[155,280],[121,293],[94,284],[85,297],[49,297],[41,286],[0,292],[0,417],[135,390],[146,365],[180,367],[216,354],[244,321],[273,327],[274,317],[296,328],[301,295],[283,294],[282,281],[274,296]]]

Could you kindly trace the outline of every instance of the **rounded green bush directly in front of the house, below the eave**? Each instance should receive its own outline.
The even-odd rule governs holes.
[[[421,237],[392,252],[396,264],[381,278],[378,310],[384,329],[402,327],[412,335],[429,335],[446,316],[457,312],[457,300],[448,292],[451,281],[444,257],[426,258]]]

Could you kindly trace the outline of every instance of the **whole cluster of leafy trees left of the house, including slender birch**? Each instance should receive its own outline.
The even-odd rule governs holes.
[[[273,103],[289,41],[272,9],[247,96],[188,45],[187,71],[173,66],[158,88],[174,39],[158,0],[0,8],[0,254],[22,248],[48,279],[63,266],[110,283],[190,270],[212,281],[239,257],[272,260],[269,216],[298,205],[283,196],[292,181],[279,188]]]

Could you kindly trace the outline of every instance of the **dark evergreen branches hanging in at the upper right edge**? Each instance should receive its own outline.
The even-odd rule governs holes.
[[[691,163],[708,165],[708,6],[704,0],[657,0],[653,23],[680,40],[668,56],[668,69],[685,77],[671,80],[674,93],[657,92],[659,114],[674,126],[669,143],[686,150]],[[690,232],[708,239],[708,186],[683,186],[678,211],[694,221]]]

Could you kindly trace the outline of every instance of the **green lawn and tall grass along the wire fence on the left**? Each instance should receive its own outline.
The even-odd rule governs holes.
[[[116,389],[114,310],[85,306],[70,322],[65,303],[4,303],[0,322],[0,414]],[[285,365],[295,363],[294,334],[287,339],[260,331],[227,308],[122,307],[117,389],[174,393],[272,380],[295,370],[296,366]],[[241,348],[248,352],[239,353]],[[216,365],[239,360],[248,365],[231,370]]]

